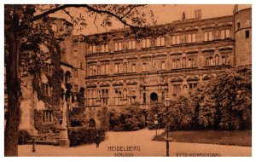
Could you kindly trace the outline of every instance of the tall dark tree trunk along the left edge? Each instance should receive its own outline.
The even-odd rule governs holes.
[[[22,99],[19,78],[20,40],[15,38],[15,34],[8,34],[6,41],[9,44],[6,67],[8,113],[4,133],[4,156],[18,156],[20,102]]]

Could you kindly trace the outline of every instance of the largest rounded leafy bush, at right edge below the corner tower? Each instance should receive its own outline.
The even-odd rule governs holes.
[[[190,93],[198,124],[222,130],[250,129],[252,124],[251,68],[221,72]]]

